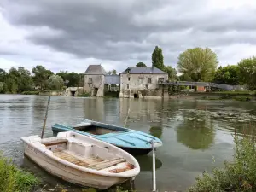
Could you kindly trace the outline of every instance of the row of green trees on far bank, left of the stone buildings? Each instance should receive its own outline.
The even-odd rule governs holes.
[[[83,73],[61,71],[55,74],[43,66],[33,67],[32,73],[24,67],[12,67],[9,72],[0,68],[0,93],[62,90],[64,86],[83,86],[83,79]]]

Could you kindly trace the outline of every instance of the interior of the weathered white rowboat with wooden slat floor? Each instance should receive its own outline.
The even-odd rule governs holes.
[[[79,143],[67,139],[51,139],[41,142],[45,148],[52,151],[53,155],[62,160],[67,160],[77,166],[94,169],[103,172],[126,172],[134,169],[127,160],[109,152],[108,148],[102,148],[92,143]]]

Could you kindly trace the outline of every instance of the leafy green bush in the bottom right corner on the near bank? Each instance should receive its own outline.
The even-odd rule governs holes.
[[[204,172],[196,178],[196,183],[189,192],[224,192],[224,191],[255,191],[256,190],[256,153],[255,138],[246,134],[239,139],[234,137],[236,144],[233,162],[224,162],[224,169],[214,168],[212,175]]]

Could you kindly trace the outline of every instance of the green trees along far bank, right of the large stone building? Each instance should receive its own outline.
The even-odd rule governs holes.
[[[136,66],[146,67],[143,62],[138,62]],[[255,56],[242,59],[236,65],[218,67],[218,56],[212,49],[187,49],[178,56],[176,70],[164,64],[162,49],[156,46],[152,53],[152,66],[168,73],[169,80],[171,81],[247,85],[248,90],[256,90]],[[182,75],[177,76],[177,72]]]

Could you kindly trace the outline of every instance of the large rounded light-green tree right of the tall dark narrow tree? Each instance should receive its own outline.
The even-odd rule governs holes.
[[[187,49],[178,56],[178,72],[193,81],[210,81],[217,66],[217,55],[209,48]]]

